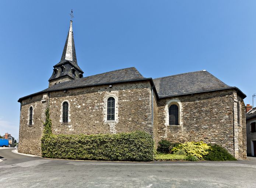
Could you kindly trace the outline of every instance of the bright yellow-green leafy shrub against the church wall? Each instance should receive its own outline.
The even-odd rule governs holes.
[[[202,159],[208,154],[208,146],[206,143],[200,142],[185,142],[184,144],[176,145],[172,148],[173,153],[175,154],[178,150],[182,149],[186,154],[196,156],[198,159]]]

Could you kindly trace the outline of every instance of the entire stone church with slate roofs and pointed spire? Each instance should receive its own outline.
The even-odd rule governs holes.
[[[84,77],[78,66],[72,21],[49,87],[18,100],[19,152],[41,155],[45,110],[53,134],[142,130],[155,144],[204,141],[246,158],[246,97],[207,71],[145,78],[136,68]]]

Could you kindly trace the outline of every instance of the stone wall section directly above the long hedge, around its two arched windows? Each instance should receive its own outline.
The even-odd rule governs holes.
[[[105,100],[118,100],[116,122],[105,122]],[[98,134],[144,130],[153,134],[149,82],[112,84],[50,92],[50,118],[54,134]],[[70,104],[69,123],[61,123],[61,105]]]

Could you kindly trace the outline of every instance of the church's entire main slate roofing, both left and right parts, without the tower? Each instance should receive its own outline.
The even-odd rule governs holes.
[[[148,80],[155,85],[158,98],[172,97],[176,95],[186,95],[192,93],[201,93],[207,91],[224,90],[224,89],[235,89],[241,94],[243,98],[246,97],[238,88],[228,86],[221,82],[215,76],[211,75],[207,71],[197,71],[183,73],[179,75],[160,77],[156,79],[145,78],[137,71],[136,68],[125,68],[116,71],[110,71],[101,73],[98,75],[87,76],[80,79],[70,80],[63,83],[53,85],[43,91],[34,93],[31,95],[44,93],[47,91],[63,90],[67,88],[85,87],[100,84],[111,84],[119,82],[129,81],[142,81]],[[23,99],[30,97],[31,95],[22,97],[18,100],[21,102]]]

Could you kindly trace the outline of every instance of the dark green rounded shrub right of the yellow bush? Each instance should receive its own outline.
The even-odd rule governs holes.
[[[222,148],[220,145],[208,144],[210,149],[208,154],[204,156],[204,160],[214,160],[214,161],[224,161],[224,160],[236,160],[233,155],[228,153],[225,148]]]

